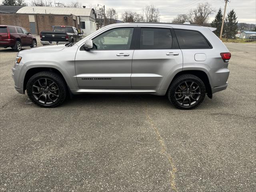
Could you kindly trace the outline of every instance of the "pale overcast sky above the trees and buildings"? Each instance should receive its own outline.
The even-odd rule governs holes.
[[[54,2],[54,0],[52,0]],[[26,0],[29,4],[30,0]],[[55,0],[55,2],[70,3],[71,0]],[[212,7],[218,11],[219,8],[224,10],[224,0],[78,0],[83,6],[105,5],[105,8],[114,8],[118,13],[118,19],[121,19],[122,12],[132,10],[133,12],[142,13],[146,5],[154,5],[159,8],[160,22],[171,22],[178,14],[185,14],[190,9],[195,8],[198,3],[209,2]],[[230,0],[227,5],[226,14],[234,9],[238,22],[256,24],[256,0]],[[210,16],[210,22],[214,19],[216,13]]]

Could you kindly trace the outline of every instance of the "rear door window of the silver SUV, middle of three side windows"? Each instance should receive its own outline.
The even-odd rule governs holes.
[[[141,28],[140,49],[171,49],[172,34],[170,29]]]

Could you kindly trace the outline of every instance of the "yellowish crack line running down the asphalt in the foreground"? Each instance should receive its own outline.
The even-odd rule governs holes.
[[[160,132],[159,132],[156,124],[154,123],[154,121],[152,120],[152,118],[148,114],[148,105],[147,105],[147,103],[146,103],[146,116],[147,116],[152,128],[154,129],[154,132],[156,134],[156,138],[157,138],[157,140],[158,140],[158,142],[161,146],[161,153],[164,154],[164,156],[166,156],[166,158],[168,160],[168,163],[170,164],[170,166],[172,168],[172,170],[170,170],[170,185],[171,185],[171,188],[174,192],[178,192],[178,190],[176,188],[176,183],[175,183],[175,173],[177,172],[177,168],[174,165],[172,156],[170,154],[168,154],[168,152],[167,152],[166,144],[165,144],[163,138],[161,137]]]

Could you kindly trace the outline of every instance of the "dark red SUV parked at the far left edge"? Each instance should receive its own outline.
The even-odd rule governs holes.
[[[36,47],[36,37],[20,26],[0,25],[0,47],[20,51],[22,46]]]

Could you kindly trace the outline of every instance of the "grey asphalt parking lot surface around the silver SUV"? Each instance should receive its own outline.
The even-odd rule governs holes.
[[[226,44],[227,90],[195,110],[164,96],[83,95],[39,108],[0,49],[0,190],[255,192],[256,44]]]

